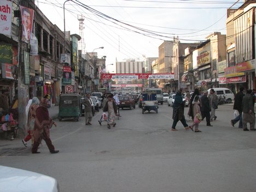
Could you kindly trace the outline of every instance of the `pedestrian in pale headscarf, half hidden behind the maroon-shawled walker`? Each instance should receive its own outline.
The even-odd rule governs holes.
[[[27,142],[32,138],[31,134],[34,129],[34,118],[36,117],[36,109],[39,106],[40,102],[37,97],[33,97],[32,100],[28,101],[26,106],[26,118],[27,118],[27,133],[28,135],[22,139],[22,143],[27,147]],[[32,139],[33,144],[33,139]]]

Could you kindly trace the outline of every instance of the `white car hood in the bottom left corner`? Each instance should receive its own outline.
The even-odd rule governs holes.
[[[0,166],[1,192],[57,192],[57,181],[44,174]]]

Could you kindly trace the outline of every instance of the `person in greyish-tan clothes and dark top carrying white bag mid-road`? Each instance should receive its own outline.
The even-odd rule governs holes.
[[[113,94],[109,94],[108,101],[103,109],[104,112],[108,112],[108,129],[111,128],[111,125],[115,127],[115,114],[117,114],[117,104],[113,99]]]

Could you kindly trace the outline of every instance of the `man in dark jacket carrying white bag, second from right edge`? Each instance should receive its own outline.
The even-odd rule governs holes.
[[[239,121],[239,128],[243,128],[243,119],[242,119],[242,101],[243,101],[243,96],[245,96],[245,94],[243,94],[243,90],[245,88],[243,88],[242,86],[240,87],[240,91],[235,95],[235,100],[234,100],[234,107],[233,109],[237,110],[239,115],[237,115],[237,117],[235,119],[231,120],[231,125],[234,127],[234,125],[237,123],[237,121]]]

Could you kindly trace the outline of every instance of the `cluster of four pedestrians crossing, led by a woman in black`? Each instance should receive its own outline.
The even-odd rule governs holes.
[[[195,89],[193,95],[187,94],[185,100],[182,98],[183,89],[179,89],[176,93],[175,100],[173,103],[173,113],[172,113],[172,131],[177,131],[176,125],[180,120],[183,124],[185,130],[192,130],[195,132],[201,132],[199,130],[199,123],[206,118],[206,126],[211,125],[211,121],[216,120],[217,116],[215,109],[218,108],[218,97],[215,95],[214,89],[211,89],[210,96],[208,96],[208,91],[203,91],[203,95],[200,96],[199,89]],[[184,116],[185,102],[189,102],[189,117],[192,118],[193,124],[190,126],[187,124]],[[195,127],[195,130],[194,130]]]

